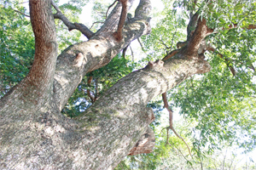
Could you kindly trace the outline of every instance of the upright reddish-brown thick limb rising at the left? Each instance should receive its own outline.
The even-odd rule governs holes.
[[[29,5],[35,35],[35,57],[27,81],[38,88],[45,88],[52,83],[55,71],[57,57],[55,23],[49,10],[50,1],[30,0]]]

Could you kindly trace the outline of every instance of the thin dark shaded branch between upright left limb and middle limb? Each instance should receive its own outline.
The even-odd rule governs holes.
[[[83,24],[72,23],[70,20],[68,20],[67,17],[61,13],[61,9],[58,8],[58,6],[53,2],[53,0],[51,1],[51,3],[52,3],[52,6],[57,11],[57,13],[54,14],[54,18],[62,20],[62,22],[67,26],[68,31],[78,30],[82,32],[82,34],[84,34],[84,36],[87,37],[88,39],[90,39],[90,37],[94,35],[94,33],[90,31],[90,29],[84,26]]]

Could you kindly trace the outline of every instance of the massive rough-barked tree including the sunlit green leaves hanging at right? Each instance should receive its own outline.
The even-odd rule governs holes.
[[[87,73],[107,65],[131,41],[151,31],[149,0],[140,0],[134,17],[129,17],[129,20],[126,15],[133,0],[119,0],[114,4],[108,18],[94,32],[83,24],[68,20],[50,0],[29,1],[35,54],[26,77],[1,98],[1,169],[113,169],[129,154],[147,153],[154,146],[154,134],[148,127],[154,120],[154,113],[147,107],[148,102],[163,94],[165,107],[169,109],[166,91],[186,79],[191,83],[183,83],[177,90],[177,96],[185,93],[183,98],[188,100],[178,101],[176,94],[172,95],[177,105],[183,106],[183,112],[199,122],[198,127],[202,130],[195,134],[199,134],[201,140],[196,140],[195,146],[200,148],[200,144],[204,144],[202,139],[211,142],[218,138],[229,139],[237,129],[225,134],[220,127],[229,128],[227,125],[246,130],[248,141],[241,145],[252,147],[253,140],[250,139],[255,140],[255,111],[250,110],[248,113],[251,115],[240,116],[237,113],[234,119],[225,114],[247,111],[254,106],[255,84],[251,79],[255,70],[255,38],[250,38],[255,37],[256,28],[256,4],[253,1],[176,2],[177,6],[189,10],[184,42],[177,42],[176,49],[161,54],[160,59],[149,61],[145,68],[120,79],[100,98],[94,98],[94,104],[79,116],[70,119],[61,114]],[[2,5],[1,8],[6,8]],[[88,41],[75,43],[58,55],[55,20],[61,20],[69,31],[82,32]],[[175,36],[166,34],[165,38],[174,40]],[[169,47],[172,49],[173,45]],[[223,48],[229,45],[232,48],[225,51]],[[208,54],[206,58],[208,52],[215,55]],[[239,57],[234,57],[234,54]],[[212,74],[209,72],[210,63]],[[203,83],[191,79],[193,75],[202,73],[207,73],[201,80]],[[229,87],[223,84],[224,77]],[[238,85],[230,83],[231,80]],[[218,89],[209,88],[211,81],[219,82],[220,90],[230,91],[221,90],[221,95],[218,94]],[[210,90],[204,91],[207,89],[204,87]],[[193,93],[201,95],[201,102],[196,103]],[[224,103],[229,110],[222,111],[218,102]],[[241,107],[236,108],[236,105]],[[168,111],[172,115],[172,111]],[[175,131],[172,116],[169,128]],[[212,138],[210,133],[216,136]],[[146,136],[150,141],[143,145],[141,143]],[[206,136],[208,138],[203,138]],[[200,150],[195,151],[200,153]]]

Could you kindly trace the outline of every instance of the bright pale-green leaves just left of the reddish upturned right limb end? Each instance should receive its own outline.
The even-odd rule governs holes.
[[[168,5],[160,14],[155,15],[159,15],[161,19],[152,28],[148,36],[142,37],[143,49],[148,55],[140,63],[148,60],[163,59],[166,54],[176,48],[177,42],[185,41],[186,38],[184,33],[186,16],[178,14],[176,9],[173,10]]]

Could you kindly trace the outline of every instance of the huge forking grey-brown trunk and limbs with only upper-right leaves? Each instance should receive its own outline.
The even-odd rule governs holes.
[[[148,102],[189,77],[211,70],[204,55],[207,51],[214,51],[224,59],[234,76],[243,66],[254,69],[253,60],[249,59],[246,65],[235,68],[230,58],[217,53],[208,38],[234,28],[255,29],[255,3],[183,1],[177,6],[183,5],[190,12],[186,41],[177,43],[177,49],[168,52],[162,60],[149,61],[145,68],[120,79],[89,109],[70,119],[61,115],[61,111],[82,78],[107,65],[131,41],[150,33],[150,1],[141,0],[134,17],[126,20],[133,0],[119,0],[96,32],[70,22],[50,0],[29,3],[35,54],[26,77],[1,99],[0,166],[3,169],[112,169],[132,154],[137,142],[144,139],[143,134],[153,138],[148,124],[154,120],[154,113],[147,107]],[[225,8],[238,12],[223,20]],[[248,17],[243,19],[245,15]],[[55,19],[63,21],[69,31],[81,31],[89,40],[69,46],[58,56]],[[203,109],[206,110],[200,111]],[[209,127],[202,128],[210,132]],[[143,147],[152,148],[150,144],[135,147],[135,151],[145,152]]]

